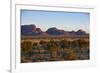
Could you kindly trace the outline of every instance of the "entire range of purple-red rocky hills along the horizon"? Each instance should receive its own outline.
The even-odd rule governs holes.
[[[77,36],[77,35],[88,35],[82,29],[78,31],[65,31],[62,29],[58,29],[56,27],[49,28],[47,31],[43,32],[41,28],[37,28],[35,24],[31,25],[21,25],[21,35],[22,36]]]

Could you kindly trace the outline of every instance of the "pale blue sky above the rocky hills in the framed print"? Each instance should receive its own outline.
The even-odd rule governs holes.
[[[21,10],[21,25],[35,24],[46,31],[56,27],[65,31],[82,29],[89,33],[90,14],[82,12],[56,12],[40,10]]]

